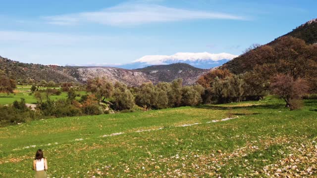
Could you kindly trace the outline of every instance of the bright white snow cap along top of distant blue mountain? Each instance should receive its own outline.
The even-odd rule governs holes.
[[[178,52],[173,55],[146,55],[137,59],[133,62],[146,63],[148,65],[160,65],[160,64],[169,64],[175,62],[190,62],[190,63],[199,63],[199,62],[216,62],[219,60],[227,59],[231,60],[237,57],[237,55],[229,53],[216,53],[211,54],[209,52]]]

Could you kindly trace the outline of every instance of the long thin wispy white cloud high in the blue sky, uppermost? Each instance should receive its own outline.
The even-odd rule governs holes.
[[[44,17],[47,23],[76,25],[97,23],[111,26],[140,25],[197,19],[246,20],[246,17],[221,12],[172,8],[151,4],[119,4],[100,11],[80,12]]]

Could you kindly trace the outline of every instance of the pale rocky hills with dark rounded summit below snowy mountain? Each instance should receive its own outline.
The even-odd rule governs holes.
[[[123,82],[129,86],[138,86],[145,82],[157,84],[159,82],[171,82],[175,79],[183,79],[184,85],[194,84],[198,77],[208,70],[199,69],[185,63],[169,65],[154,65],[141,69],[127,70],[115,67],[65,67],[67,74],[80,82],[96,76],[106,77],[116,82]]]

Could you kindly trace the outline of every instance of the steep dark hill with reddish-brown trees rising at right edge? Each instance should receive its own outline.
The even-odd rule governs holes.
[[[317,19],[311,20],[292,32],[261,46],[253,46],[244,54],[220,66],[234,74],[254,70],[256,66],[292,63],[293,69],[303,66],[312,69],[317,60]],[[310,65],[308,65],[310,64]],[[297,67],[295,65],[300,65]],[[308,65],[308,66],[307,66]],[[285,69],[285,70],[284,70]],[[281,73],[298,72],[280,68]]]

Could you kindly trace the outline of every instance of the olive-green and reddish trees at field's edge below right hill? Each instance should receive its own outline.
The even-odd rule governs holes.
[[[259,71],[257,71],[259,72]],[[256,72],[234,75],[228,70],[211,70],[197,81],[205,87],[205,103],[228,103],[258,100],[269,93],[283,98],[291,110],[299,108],[301,98],[310,92],[309,81],[291,74],[273,73],[269,78],[254,76]],[[264,71],[261,71],[265,75]],[[260,73],[259,73],[260,74]]]

